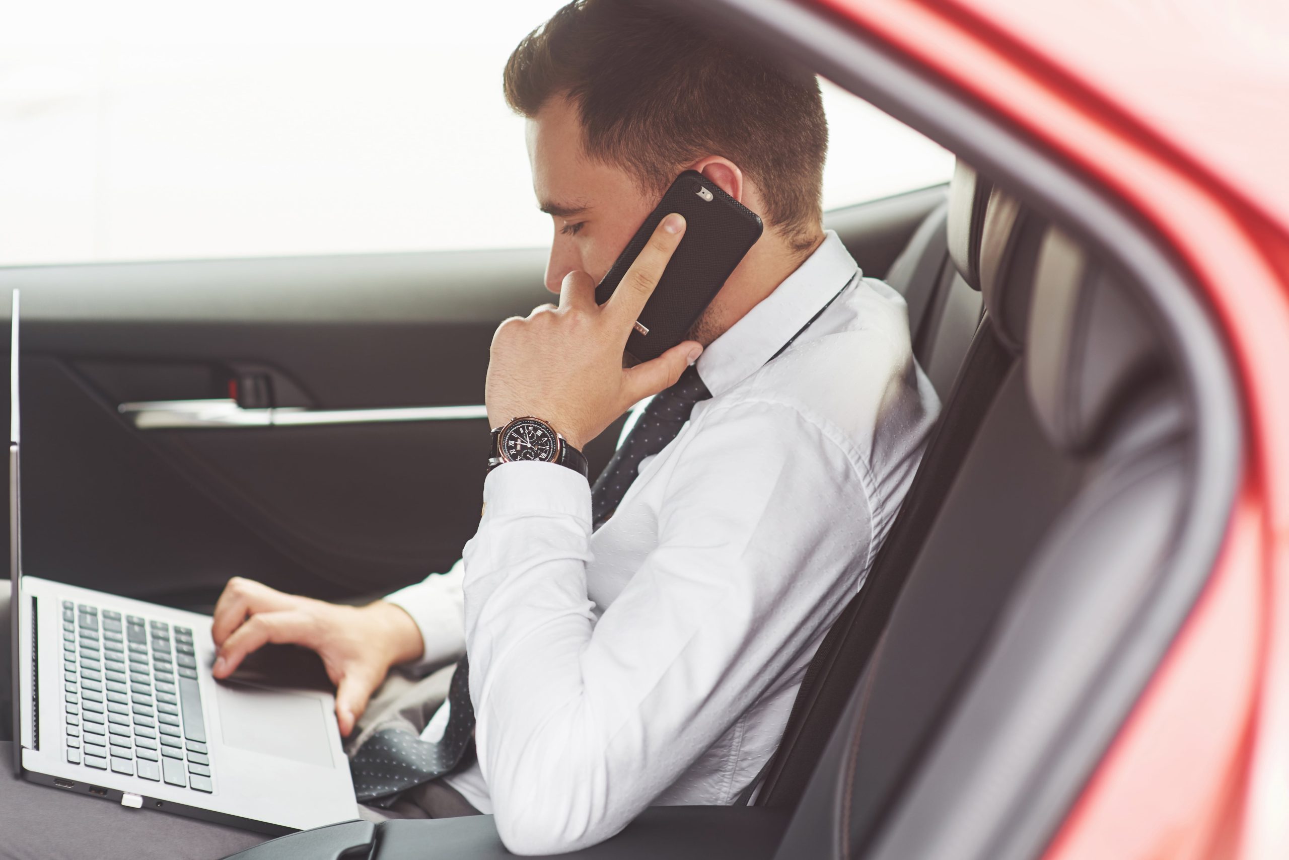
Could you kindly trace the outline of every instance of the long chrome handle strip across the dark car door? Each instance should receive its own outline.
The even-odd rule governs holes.
[[[480,406],[409,406],[380,409],[308,409],[271,407],[246,409],[231,399],[146,400],[116,407],[139,430],[305,427],[329,424],[388,424],[392,421],[477,421],[487,418]]]

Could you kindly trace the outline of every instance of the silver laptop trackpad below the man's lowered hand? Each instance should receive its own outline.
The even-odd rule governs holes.
[[[318,767],[335,765],[320,699],[227,681],[215,690],[226,745]]]

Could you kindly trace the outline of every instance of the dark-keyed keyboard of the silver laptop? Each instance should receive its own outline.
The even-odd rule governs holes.
[[[192,630],[63,601],[67,761],[214,790]]]

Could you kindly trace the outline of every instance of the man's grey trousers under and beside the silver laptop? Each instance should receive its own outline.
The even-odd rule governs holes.
[[[0,682],[4,696],[9,681],[9,595],[0,581]],[[405,722],[419,731],[447,696],[452,667],[424,678],[393,673],[373,696],[358,731],[347,744],[352,752],[378,726]],[[0,712],[10,713],[9,703]],[[131,810],[119,803],[72,794],[15,778],[13,745],[0,743],[0,857],[9,860],[219,860],[272,837],[210,824],[153,810]],[[391,810],[354,803],[354,818],[451,818],[477,815],[465,798],[440,781],[409,792]]]

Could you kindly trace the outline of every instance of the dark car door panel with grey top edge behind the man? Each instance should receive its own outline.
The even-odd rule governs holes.
[[[880,276],[942,198],[830,219]],[[544,263],[531,250],[0,269],[0,288],[23,291],[26,569],[179,605],[209,605],[231,575],[358,599],[446,570],[480,516],[492,332],[552,299]],[[259,426],[144,429],[121,411],[236,409],[266,380],[271,402],[241,413]],[[268,424],[286,415],[269,406],[327,422]],[[474,417],[382,412],[424,407]],[[353,409],[378,413],[330,422]],[[593,474],[620,427],[588,445]]]

